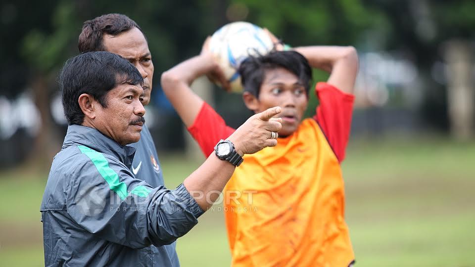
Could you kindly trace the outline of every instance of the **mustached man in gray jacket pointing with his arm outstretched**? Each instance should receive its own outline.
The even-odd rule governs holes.
[[[139,140],[145,113],[139,71],[119,55],[88,52],[68,60],[59,80],[69,127],[41,204],[46,266],[160,265],[143,249],[186,234],[244,154],[277,144],[279,107],[220,141],[176,189],[154,188],[130,171],[127,144]]]

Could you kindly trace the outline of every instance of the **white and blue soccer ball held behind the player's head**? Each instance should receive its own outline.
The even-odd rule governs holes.
[[[239,64],[249,55],[265,55],[274,48],[271,38],[262,28],[243,21],[224,25],[209,42],[209,49],[233,92],[242,92]]]

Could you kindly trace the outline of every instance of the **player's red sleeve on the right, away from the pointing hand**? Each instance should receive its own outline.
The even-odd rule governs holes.
[[[320,105],[313,118],[327,136],[336,158],[342,162],[350,135],[355,97],[327,83],[318,83],[315,93],[320,99]]]

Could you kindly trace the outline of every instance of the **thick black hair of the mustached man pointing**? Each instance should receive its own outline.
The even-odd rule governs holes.
[[[64,115],[69,125],[81,125],[84,113],[79,107],[79,96],[92,95],[103,107],[107,93],[122,84],[141,85],[140,72],[127,59],[106,52],[87,52],[66,61],[59,74],[59,88]]]

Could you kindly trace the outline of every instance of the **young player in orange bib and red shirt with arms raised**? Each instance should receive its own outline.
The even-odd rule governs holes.
[[[200,55],[162,75],[165,94],[206,156],[214,142],[234,132],[190,89],[202,75],[229,86],[208,43]],[[303,119],[312,67],[330,72],[330,78],[315,88],[320,99],[315,116]],[[234,192],[226,193],[224,201],[232,266],[353,265],[340,163],[357,71],[357,53],[350,46],[296,47],[241,63],[246,107],[257,113],[278,105],[283,123],[279,144],[246,156],[226,185],[227,192]]]

